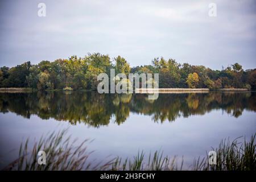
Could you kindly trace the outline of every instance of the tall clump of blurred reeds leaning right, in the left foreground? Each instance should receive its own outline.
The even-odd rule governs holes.
[[[87,163],[87,160],[92,152],[87,151],[84,140],[78,147],[74,147],[76,139],[71,140],[71,137],[65,137],[67,130],[53,132],[47,137],[42,136],[39,142],[34,143],[31,151],[28,151],[28,142],[20,144],[19,157],[14,162],[10,163],[4,170],[24,170],[24,171],[80,171],[80,170],[100,170],[109,167],[110,164]],[[38,152],[46,152],[46,165],[38,164]]]

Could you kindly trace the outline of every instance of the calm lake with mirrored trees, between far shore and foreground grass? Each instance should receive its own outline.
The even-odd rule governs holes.
[[[189,166],[221,139],[256,133],[255,92],[98,94],[97,92],[0,93],[0,167],[18,156],[27,138],[68,129],[92,139],[90,160],[133,158],[161,150]]]

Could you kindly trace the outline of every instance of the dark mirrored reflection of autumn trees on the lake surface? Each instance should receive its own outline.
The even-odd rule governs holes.
[[[222,109],[237,118],[244,109],[256,111],[255,96],[253,92],[210,92],[159,94],[157,100],[148,100],[146,94],[1,93],[0,111],[10,111],[26,118],[36,114],[42,119],[54,118],[73,125],[79,122],[100,127],[109,125],[111,119],[120,125],[130,112],[151,115],[154,122],[172,122],[178,117],[203,115],[213,109]]]

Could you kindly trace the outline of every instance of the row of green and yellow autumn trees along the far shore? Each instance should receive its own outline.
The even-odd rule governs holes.
[[[41,61],[32,65],[30,61],[13,68],[0,68],[1,88],[35,88],[38,90],[92,89],[96,90],[97,76],[110,75],[110,69],[117,73],[159,73],[159,88],[247,88],[256,89],[256,69],[244,71],[235,63],[221,71],[203,65],[179,64],[174,59],[163,57],[152,60],[151,65],[130,68],[125,58],[113,60],[100,53],[85,57],[71,56],[53,62]]]

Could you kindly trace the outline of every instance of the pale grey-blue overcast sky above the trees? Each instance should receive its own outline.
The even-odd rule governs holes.
[[[38,16],[38,3],[46,17]],[[217,16],[210,17],[209,3]],[[179,63],[256,68],[256,1],[0,1],[0,66],[88,52]]]

